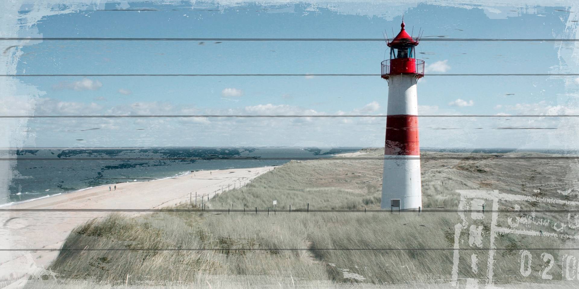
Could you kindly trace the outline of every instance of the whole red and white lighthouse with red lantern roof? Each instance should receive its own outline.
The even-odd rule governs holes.
[[[424,61],[415,58],[419,37],[404,29],[390,40],[390,59],[382,62],[382,78],[388,81],[388,112],[384,146],[382,204],[390,210],[422,207],[418,101],[416,83],[424,76]]]

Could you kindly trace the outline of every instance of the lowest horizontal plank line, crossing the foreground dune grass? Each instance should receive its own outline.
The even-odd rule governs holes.
[[[579,250],[579,248],[111,248],[111,249],[74,249],[74,248],[39,248],[39,249],[0,249],[0,251],[540,251],[540,250]]]

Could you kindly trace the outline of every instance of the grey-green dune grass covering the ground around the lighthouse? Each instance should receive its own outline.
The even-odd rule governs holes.
[[[379,155],[379,151],[370,151],[372,154]],[[424,207],[456,209],[455,190],[459,188],[554,196],[556,190],[566,186],[565,181],[553,181],[555,176],[560,179],[566,164],[508,162],[423,161]],[[277,208],[284,210],[290,204],[292,209],[303,209],[306,203],[310,203],[310,209],[378,209],[381,182],[381,161],[292,161],[243,188],[212,198],[208,206],[227,209],[233,204],[233,209],[267,209],[277,199]],[[533,191],[537,186],[541,188],[538,193]],[[181,204],[177,208],[190,206]],[[566,216],[543,217],[556,220]],[[243,278],[243,286],[282,288],[295,286],[296,282],[320,286],[441,284],[450,280],[453,250],[372,249],[452,249],[457,223],[460,218],[456,213],[277,212],[268,216],[248,210],[231,214],[159,212],[138,217],[111,214],[76,228],[63,248],[115,250],[63,250],[50,268],[59,280],[111,285],[205,284],[209,280],[230,284],[226,280],[236,278]],[[488,235],[488,227],[483,233]],[[462,235],[460,242],[468,244],[468,235]],[[488,241],[484,242],[483,247],[488,247]],[[538,275],[523,278],[518,273],[519,249],[559,247],[564,242],[500,235],[496,246],[513,250],[497,253],[496,281],[543,281]],[[460,276],[482,278],[489,253],[479,250],[461,254],[460,264],[470,264],[471,253],[483,260],[480,272],[472,273],[470,266],[463,265],[459,267]],[[548,253],[559,254],[557,250]],[[552,272],[561,272],[559,265]],[[535,262],[533,270],[540,271],[541,264]],[[554,280],[561,278],[560,273],[554,274]]]

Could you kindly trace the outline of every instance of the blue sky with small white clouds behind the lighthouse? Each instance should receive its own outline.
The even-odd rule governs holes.
[[[381,38],[400,30],[448,38],[562,38],[565,6],[531,8],[188,1],[107,2],[43,17],[19,36]],[[156,11],[97,11],[103,9]],[[22,5],[25,19],[34,5]],[[51,9],[67,9],[54,6]],[[215,11],[217,10],[217,11]],[[394,12],[392,12],[394,11]],[[390,35],[391,36],[391,35]],[[8,42],[2,42],[6,45]],[[560,73],[575,43],[432,42],[427,73]],[[18,48],[19,74],[379,73],[384,42],[43,41]],[[562,52],[563,51],[563,52]],[[569,71],[567,71],[569,72]],[[386,114],[379,77],[19,77],[40,91],[34,114]],[[563,114],[577,77],[430,76],[420,114]],[[568,147],[559,118],[420,118],[423,147]],[[32,119],[24,146],[380,146],[385,118]],[[91,129],[98,128],[98,129]],[[502,129],[519,128],[519,129]],[[520,129],[527,128],[527,129]],[[528,129],[534,128],[534,129]],[[536,129],[551,128],[551,129]],[[86,130],[91,129],[91,130]]]

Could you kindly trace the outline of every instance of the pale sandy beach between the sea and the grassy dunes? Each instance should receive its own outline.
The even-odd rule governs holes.
[[[0,243],[12,251],[0,252],[0,288],[19,288],[28,275],[38,273],[56,258],[69,232],[77,225],[109,212],[14,212],[13,209],[160,209],[178,203],[207,202],[207,197],[244,186],[273,166],[217,171],[197,171],[152,181],[134,181],[89,188],[10,206],[0,212]],[[114,186],[116,185],[116,190]],[[129,212],[126,214],[139,214]]]

